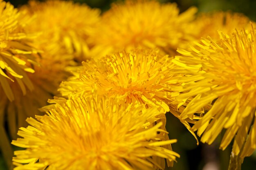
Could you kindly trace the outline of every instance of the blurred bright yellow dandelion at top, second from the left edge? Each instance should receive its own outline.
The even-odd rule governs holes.
[[[35,42],[39,48],[50,55],[69,54],[79,61],[90,58],[88,53],[93,44],[88,42],[88,37],[100,20],[99,9],[72,1],[32,0],[21,10],[29,11],[34,17],[27,29],[42,33]]]

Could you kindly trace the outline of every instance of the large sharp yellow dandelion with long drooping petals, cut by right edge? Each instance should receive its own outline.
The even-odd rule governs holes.
[[[220,148],[225,149],[234,138],[233,152],[243,158],[256,148],[256,32],[235,30],[231,35],[220,33],[220,40],[202,39],[200,50],[191,46],[192,52],[178,51],[174,63],[187,70],[180,79],[184,94],[177,100],[193,99],[180,115],[190,117],[201,107],[211,109],[194,126],[202,142],[211,144],[226,129]],[[198,67],[198,73],[189,69]]]

